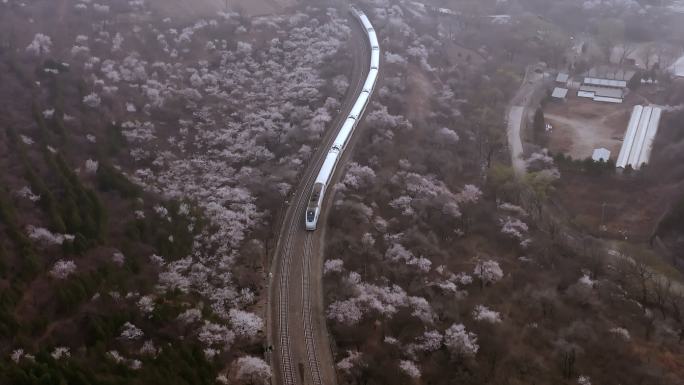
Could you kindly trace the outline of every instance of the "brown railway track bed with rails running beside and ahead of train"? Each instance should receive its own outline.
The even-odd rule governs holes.
[[[368,75],[370,46],[365,31],[349,16],[352,72],[339,114],[330,124],[291,196],[278,234],[269,273],[268,342],[274,384],[332,385],[336,374],[323,304],[323,240],[333,194],[326,194],[319,230],[304,229],[304,213],[314,180],[337,132],[349,115]],[[350,139],[331,186],[349,157]],[[332,192],[332,189],[330,190]]]

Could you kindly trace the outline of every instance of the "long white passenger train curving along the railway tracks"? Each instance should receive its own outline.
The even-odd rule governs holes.
[[[314,182],[304,218],[307,230],[316,230],[316,224],[318,223],[318,217],[321,214],[321,206],[323,205],[325,191],[330,184],[330,179],[335,173],[335,167],[337,167],[337,162],[342,156],[342,152],[354,133],[356,125],[363,116],[366,106],[368,106],[368,101],[375,89],[375,83],[378,80],[378,70],[380,70],[380,45],[378,44],[378,37],[375,34],[375,30],[373,29],[370,20],[368,20],[368,17],[361,10],[351,7],[351,13],[361,25],[363,25],[363,28],[368,35],[368,43],[371,47],[370,70],[368,71],[368,77],[363,85],[361,94],[358,99],[356,99],[356,103],[354,103],[349,116],[347,116],[347,120],[345,120],[340,132],[337,134],[332,147],[328,151],[328,155],[325,157],[323,166],[321,166],[321,169],[318,172],[316,181]]]

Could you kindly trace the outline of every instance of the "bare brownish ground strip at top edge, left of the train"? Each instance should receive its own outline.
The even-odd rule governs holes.
[[[226,9],[245,12],[248,16],[278,13],[293,5],[294,0],[150,0],[154,11],[172,18],[183,19],[215,15]],[[226,8],[227,6],[227,8]]]

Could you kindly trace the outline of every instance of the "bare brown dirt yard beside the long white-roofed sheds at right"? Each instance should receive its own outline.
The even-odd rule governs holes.
[[[549,150],[584,159],[590,157],[595,148],[604,147],[615,159],[620,152],[632,108],[640,102],[636,95],[629,95],[622,104],[599,103],[571,96],[564,103],[549,104],[544,111],[547,123],[553,126]]]

